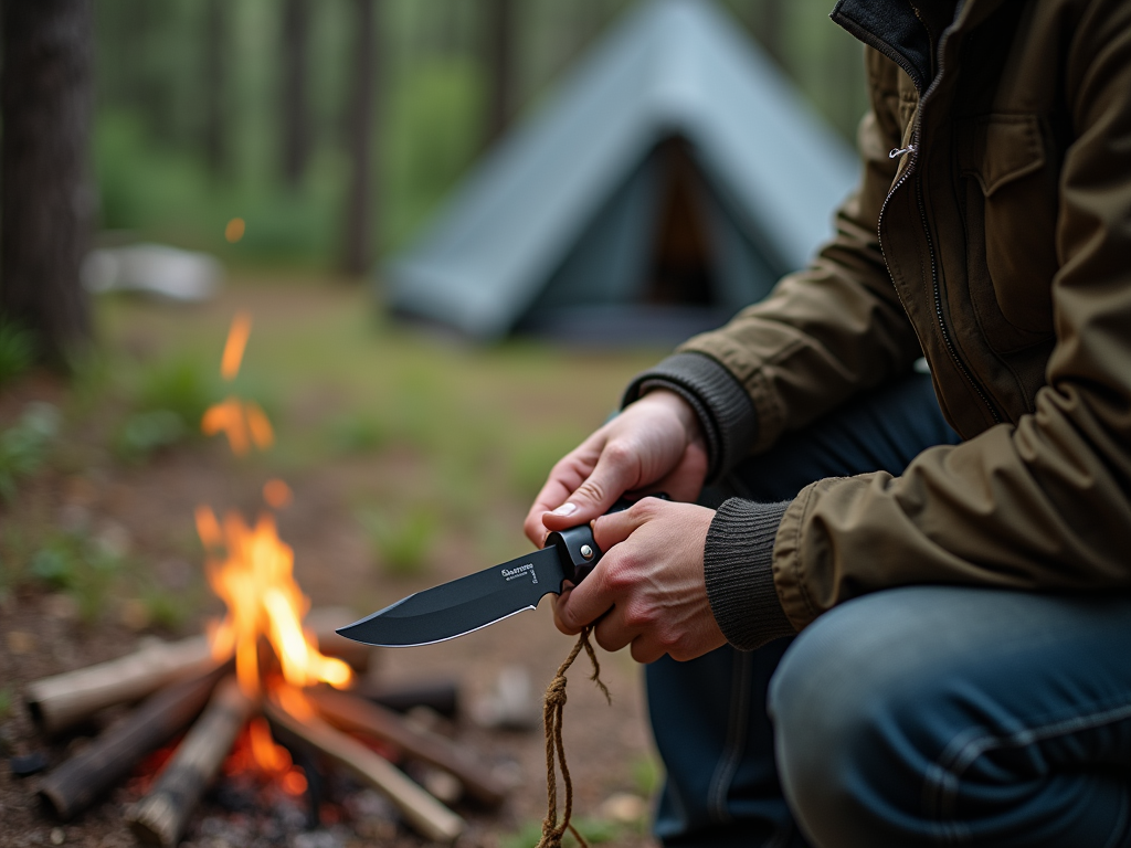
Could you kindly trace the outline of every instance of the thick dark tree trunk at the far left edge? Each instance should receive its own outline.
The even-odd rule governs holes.
[[[94,206],[92,2],[3,0],[0,14],[0,312],[66,364],[90,335],[79,268]]]

